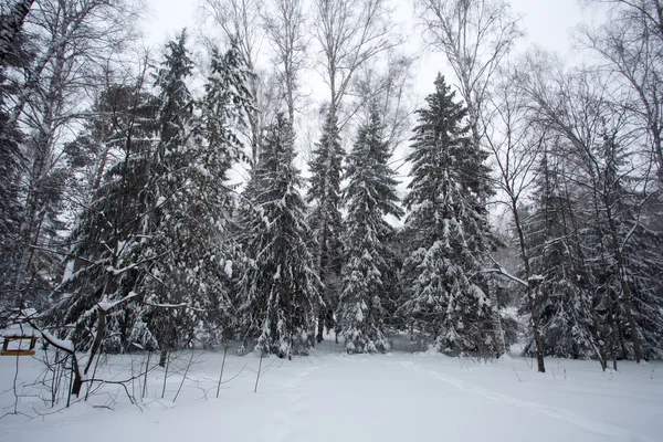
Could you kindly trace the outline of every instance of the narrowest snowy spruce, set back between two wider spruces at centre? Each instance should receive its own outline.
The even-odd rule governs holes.
[[[332,108],[334,110],[334,108]],[[334,311],[340,294],[343,261],[343,217],[340,214],[344,150],[340,145],[338,120],[334,112],[327,114],[323,135],[312,152],[311,188],[306,202],[313,206],[308,224],[313,229],[314,259],[320,276],[323,304],[317,306],[317,341],[323,340],[323,327],[334,326]]]

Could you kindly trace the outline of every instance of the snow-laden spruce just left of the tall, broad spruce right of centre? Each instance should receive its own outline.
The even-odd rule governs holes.
[[[398,181],[389,167],[391,152],[382,130],[378,110],[372,108],[347,158],[348,214],[338,320],[350,354],[389,350],[385,316],[386,304],[393,298],[388,275],[396,256],[388,242],[394,235],[393,228],[385,217],[400,218],[403,211],[398,206]]]

